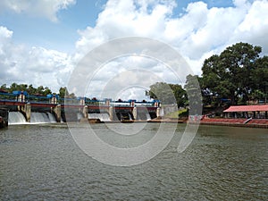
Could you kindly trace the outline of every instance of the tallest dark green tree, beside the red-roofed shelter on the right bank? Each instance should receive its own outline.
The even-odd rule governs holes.
[[[255,61],[261,51],[260,46],[237,43],[205,59],[202,90],[209,90],[218,100],[230,98],[231,105],[237,105],[239,98],[247,100],[254,88]]]

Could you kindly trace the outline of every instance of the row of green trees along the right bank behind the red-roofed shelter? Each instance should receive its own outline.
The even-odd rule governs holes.
[[[188,96],[193,96],[188,89],[193,80],[198,80],[203,105],[267,103],[268,56],[260,56],[261,53],[261,46],[248,43],[228,46],[221,54],[205,59],[202,75],[188,75],[185,86],[157,82],[146,95],[158,95],[163,104],[185,106]],[[171,90],[176,101],[167,96]]]

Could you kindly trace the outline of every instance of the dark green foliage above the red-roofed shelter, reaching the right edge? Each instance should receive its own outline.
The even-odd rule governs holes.
[[[260,46],[237,43],[205,59],[201,79],[205,104],[215,100],[220,104],[222,98],[230,99],[231,105],[246,103],[255,90],[267,96],[268,58],[259,58],[261,52]]]

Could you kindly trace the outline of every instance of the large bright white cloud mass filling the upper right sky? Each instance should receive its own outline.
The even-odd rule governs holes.
[[[268,2],[234,0],[233,4],[233,7],[227,8],[208,8],[204,2],[191,3],[180,17],[173,17],[176,6],[173,1],[110,0],[98,15],[96,26],[79,31],[80,40],[76,47],[78,53],[84,55],[113,38],[155,38],[177,49],[197,74],[201,74],[205,58],[219,54],[226,46],[237,42],[263,46],[264,54],[267,54]],[[111,65],[106,72],[120,74],[119,69]],[[147,70],[154,71],[152,66]],[[165,80],[174,81],[167,74],[162,68],[160,78],[165,75]],[[120,85],[117,83],[117,86]]]

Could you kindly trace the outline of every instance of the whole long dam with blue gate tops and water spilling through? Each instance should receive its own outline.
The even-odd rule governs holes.
[[[51,123],[81,120],[149,121],[160,117],[160,102],[113,101],[105,98],[30,96],[27,92],[0,93],[0,108],[8,111],[8,124]]]

